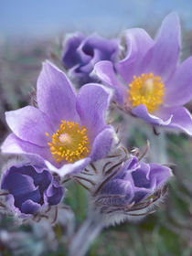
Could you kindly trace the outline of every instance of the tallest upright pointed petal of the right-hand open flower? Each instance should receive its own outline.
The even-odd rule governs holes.
[[[141,63],[143,73],[154,73],[165,81],[175,71],[180,50],[180,24],[176,13],[165,17],[160,31]]]

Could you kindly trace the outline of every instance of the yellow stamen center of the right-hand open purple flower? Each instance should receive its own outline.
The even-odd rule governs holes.
[[[141,77],[133,76],[133,81],[127,90],[129,101],[133,107],[144,104],[148,112],[155,112],[163,102],[165,86],[161,77],[153,73],[142,74]]]

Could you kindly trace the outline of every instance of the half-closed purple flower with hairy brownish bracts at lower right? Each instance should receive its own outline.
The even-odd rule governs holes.
[[[108,176],[98,184],[93,198],[106,226],[151,213],[164,197],[165,183],[172,176],[170,168],[146,164],[133,155],[105,173]]]

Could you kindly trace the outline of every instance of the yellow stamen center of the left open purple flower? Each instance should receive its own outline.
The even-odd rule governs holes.
[[[88,155],[90,152],[90,142],[87,135],[87,129],[79,123],[61,121],[59,129],[50,136],[51,143],[48,143],[51,154],[56,162],[62,160],[67,163],[73,163]]]

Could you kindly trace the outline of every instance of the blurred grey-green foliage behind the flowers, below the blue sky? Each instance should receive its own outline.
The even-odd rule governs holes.
[[[186,34],[185,38],[187,46],[184,56],[187,57],[191,53],[192,34]],[[0,143],[7,134],[4,112],[30,103],[29,94],[36,87],[41,62],[44,59],[54,59],[59,65],[60,46],[60,40],[30,43],[7,41],[0,45]],[[192,110],[191,104],[188,104],[188,109]],[[146,143],[146,134],[140,127],[136,128],[135,124],[129,125],[129,129],[123,133],[128,137],[126,143],[129,148],[143,147]],[[168,162],[176,164],[172,167],[175,176],[170,181],[165,203],[141,223],[124,223],[118,227],[104,229],[92,244],[89,256],[192,255],[192,140],[186,135],[171,133],[165,135],[165,140]],[[4,161],[0,158],[1,165]],[[68,186],[65,203],[74,210],[79,227],[86,218],[87,193],[78,184],[71,183]],[[0,255],[67,255],[66,241],[62,239],[62,229],[59,225],[54,229],[58,239],[54,248],[49,248],[44,237],[37,238],[37,232],[34,230],[33,225],[17,227],[13,225],[13,219],[2,217],[0,233],[6,231],[2,236],[13,236],[16,233],[23,238],[24,234],[25,243],[19,244],[17,240],[18,244],[10,247],[1,240],[0,235]],[[14,239],[16,238],[13,236]],[[26,251],[26,248],[31,250]]]

